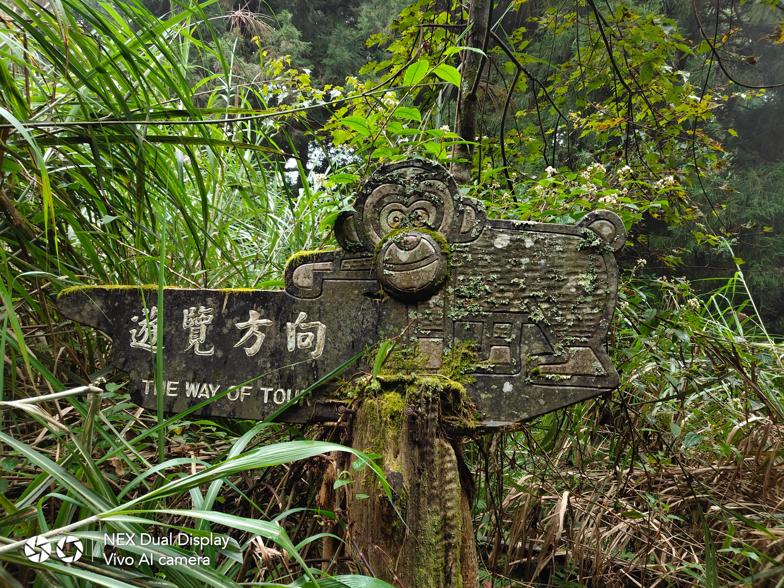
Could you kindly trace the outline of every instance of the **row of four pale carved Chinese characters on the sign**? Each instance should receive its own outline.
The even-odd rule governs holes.
[[[145,308],[142,314],[142,318],[138,315],[131,318],[139,325],[139,328],[130,330],[130,345],[155,353],[154,343],[158,336],[158,307],[151,307],[149,310]],[[274,321],[269,318],[260,317],[261,314],[258,310],[249,310],[247,321],[234,324],[235,327],[245,331],[239,341],[234,343],[234,347],[240,347],[255,337],[250,347],[243,347],[245,354],[249,357],[259,353],[261,345],[264,343],[266,335],[262,328],[274,325]],[[209,349],[203,348],[207,340],[207,325],[212,325],[214,318],[215,314],[212,308],[199,305],[198,310],[197,307],[183,309],[183,328],[188,330],[188,343],[185,351],[192,349],[196,355],[215,354],[214,345]],[[315,332],[305,330],[297,332],[297,328],[314,328]],[[324,353],[326,334],[327,325],[320,321],[307,321],[307,313],[300,312],[296,321],[286,323],[286,347],[289,351],[313,349],[310,352],[310,358],[318,359]]]

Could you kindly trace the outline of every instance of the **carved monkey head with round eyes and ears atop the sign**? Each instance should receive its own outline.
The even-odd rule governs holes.
[[[401,299],[423,299],[443,284],[450,244],[474,241],[485,212],[460,196],[442,165],[408,159],[384,165],[365,182],[354,211],[342,212],[335,236],[347,252],[371,252],[383,288]]]

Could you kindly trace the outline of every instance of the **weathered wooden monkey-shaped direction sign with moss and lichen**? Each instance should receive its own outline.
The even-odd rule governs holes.
[[[58,307],[111,337],[112,365],[147,408],[157,404],[162,328],[169,412],[218,395],[197,414],[263,419],[409,324],[403,344],[416,344],[434,372],[452,347],[475,346],[481,361],[467,390],[488,427],[618,385],[603,347],[618,292],[614,252],[626,242],[614,212],[576,225],[491,220],[441,165],[408,160],[372,174],[335,236],[340,249],[292,256],[283,291],[167,288],[158,309],[156,286],[84,286],[64,290]],[[339,403],[324,390],[279,420],[335,420]]]

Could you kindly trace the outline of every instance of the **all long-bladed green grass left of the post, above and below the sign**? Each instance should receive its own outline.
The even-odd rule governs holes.
[[[312,499],[302,460],[352,450],[269,422],[148,415],[123,394],[111,342],[56,311],[73,284],[274,286],[292,252],[318,248],[340,202],[289,184],[296,151],[258,116],[297,72],[260,58],[255,77],[238,75],[211,2],[177,4],[165,20],[136,2],[20,0],[0,12],[0,583],[385,586],[312,569],[311,523],[330,514],[292,510]],[[277,502],[261,503],[267,487]],[[206,566],[160,563],[192,553],[156,547],[153,566],[140,562],[149,548],[113,551],[104,535],[172,529],[231,542],[206,546]],[[34,563],[20,551],[66,532],[94,557]]]

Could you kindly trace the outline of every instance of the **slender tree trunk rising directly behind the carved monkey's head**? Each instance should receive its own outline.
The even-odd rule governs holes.
[[[492,15],[493,0],[471,0],[468,13],[469,47],[487,52],[488,21]],[[477,137],[477,114],[479,113],[478,80],[481,78],[485,59],[481,53],[463,50],[463,67],[460,72],[462,82],[457,98],[455,132],[466,141],[474,141]],[[471,162],[474,157],[472,145],[456,145],[452,151],[453,158],[466,159],[466,162],[454,162],[450,171],[457,183],[470,183]]]

